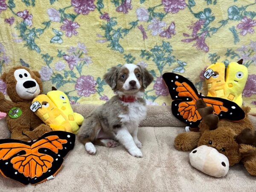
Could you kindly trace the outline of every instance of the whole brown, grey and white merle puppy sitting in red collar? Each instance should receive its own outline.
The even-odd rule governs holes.
[[[90,154],[96,153],[93,144],[116,147],[121,143],[132,156],[142,157],[137,132],[146,115],[146,104],[141,97],[153,76],[144,67],[125,64],[112,67],[104,80],[117,95],[84,119],[78,138]]]

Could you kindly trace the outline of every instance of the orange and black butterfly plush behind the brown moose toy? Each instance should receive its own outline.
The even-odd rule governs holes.
[[[163,80],[173,100],[172,113],[190,128],[197,128],[202,120],[195,107],[195,102],[199,98],[202,98],[207,106],[213,107],[213,112],[218,115],[219,119],[239,121],[245,118],[244,111],[235,102],[218,97],[201,96],[194,84],[183,76],[176,73],[164,73]]]

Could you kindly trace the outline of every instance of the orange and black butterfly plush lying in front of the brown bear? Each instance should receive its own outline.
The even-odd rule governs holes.
[[[73,133],[52,131],[35,142],[0,140],[0,172],[25,185],[54,178],[75,139]]]

